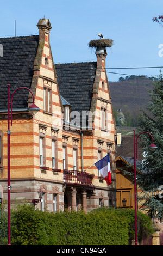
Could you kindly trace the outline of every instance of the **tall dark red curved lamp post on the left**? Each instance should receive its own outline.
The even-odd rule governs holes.
[[[8,84],[8,130],[7,130],[7,135],[8,135],[8,245],[11,245],[11,240],[10,240],[10,190],[11,190],[11,186],[10,186],[10,135],[11,135],[11,131],[10,131],[10,104],[11,104],[11,126],[12,126],[12,99],[14,94],[16,93],[17,90],[19,89],[27,89],[29,90],[30,93],[32,93],[32,91],[30,89],[28,89],[27,87],[20,87],[17,88],[14,93],[12,93],[11,95],[11,102],[10,102],[10,84]],[[32,93],[32,97],[33,97],[33,104],[28,107],[28,111],[30,111],[32,114],[37,113],[37,111],[40,110],[39,107],[37,107],[34,103],[34,95]]]

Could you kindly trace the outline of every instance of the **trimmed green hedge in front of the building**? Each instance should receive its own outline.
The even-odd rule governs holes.
[[[12,213],[11,244],[128,245],[133,236],[132,212],[102,208],[88,214],[83,211],[53,214],[23,205]],[[147,219],[145,222],[147,234],[151,232],[151,222]]]

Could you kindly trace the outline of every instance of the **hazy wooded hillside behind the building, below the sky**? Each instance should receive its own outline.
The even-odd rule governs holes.
[[[117,109],[121,109],[126,118],[126,126],[136,126],[140,108],[145,109],[149,103],[148,89],[152,80],[148,78],[126,78],[119,82],[109,82],[111,101],[117,121]],[[118,122],[117,122],[118,124]]]

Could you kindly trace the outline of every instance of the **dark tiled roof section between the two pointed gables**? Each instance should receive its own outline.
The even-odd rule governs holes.
[[[96,62],[55,64],[59,92],[72,107],[71,111],[89,111]]]

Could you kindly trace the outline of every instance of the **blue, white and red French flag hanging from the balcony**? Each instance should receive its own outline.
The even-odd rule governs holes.
[[[111,170],[110,170],[110,159],[109,155],[106,155],[101,160],[95,163],[95,166],[98,168],[99,172],[104,177],[107,185],[111,184]]]

